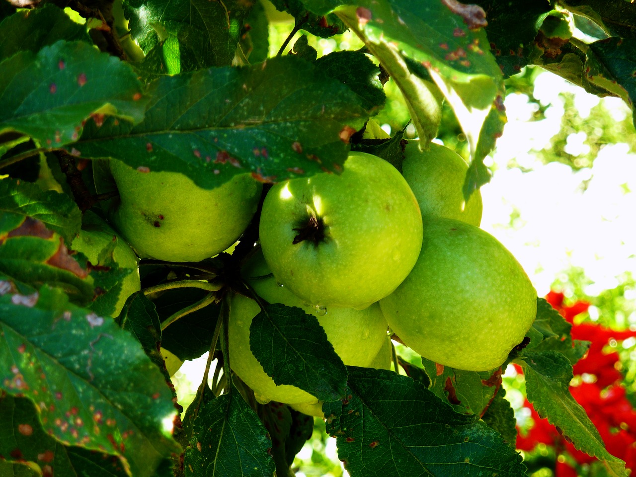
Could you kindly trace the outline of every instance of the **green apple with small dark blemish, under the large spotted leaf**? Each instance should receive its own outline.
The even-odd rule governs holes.
[[[142,258],[201,261],[223,252],[251,221],[262,184],[248,174],[206,190],[177,172],[148,172],[119,160],[93,167],[98,193],[119,191],[107,216]]]

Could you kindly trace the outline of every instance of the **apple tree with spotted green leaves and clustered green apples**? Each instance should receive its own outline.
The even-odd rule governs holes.
[[[635,25],[624,0],[0,0],[0,475],[291,476],[317,416],[354,477],[523,476],[510,363],[626,475],[570,394],[589,342],[478,225],[515,75],[632,106]],[[463,159],[431,142],[450,116]]]

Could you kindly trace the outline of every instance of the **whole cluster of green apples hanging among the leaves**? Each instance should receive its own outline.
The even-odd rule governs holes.
[[[390,368],[388,330],[444,366],[497,368],[532,325],[536,291],[513,255],[479,228],[480,193],[467,202],[462,193],[467,167],[445,146],[410,141],[401,172],[352,152],[342,174],[275,184],[242,277],[262,300],[317,317],[347,365]],[[137,256],[196,262],[225,251],[252,220],[262,190],[247,174],[203,190],[182,174],[118,160],[95,162],[93,174],[99,193],[118,191],[102,208],[123,239],[116,260],[135,272]],[[73,247],[97,260],[90,254],[104,243],[88,245],[97,240],[91,227],[112,240],[105,223],[87,222]],[[139,289],[139,274],[123,288],[125,301]],[[322,415],[318,399],[276,385],[252,354],[249,327],[259,310],[230,294],[233,371],[260,402]]]

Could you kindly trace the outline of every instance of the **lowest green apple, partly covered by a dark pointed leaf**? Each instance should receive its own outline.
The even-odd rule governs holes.
[[[317,317],[329,342],[345,364],[369,366],[387,341],[387,322],[377,303],[365,310],[333,308],[321,315],[315,308],[304,305],[303,300],[287,287],[277,284],[262,255],[252,259],[243,273],[245,277],[260,277],[247,281],[264,300],[300,307],[307,314]],[[318,403],[316,397],[298,387],[276,385],[252,354],[249,347],[249,326],[260,310],[256,301],[240,294],[234,294],[230,300],[228,334],[232,370],[254,390],[254,396],[261,403]]]

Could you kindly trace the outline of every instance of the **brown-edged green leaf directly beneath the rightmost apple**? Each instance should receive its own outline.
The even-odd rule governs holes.
[[[422,358],[431,380],[429,389],[453,405],[455,411],[481,417],[501,388],[501,368],[494,371],[456,370]]]

